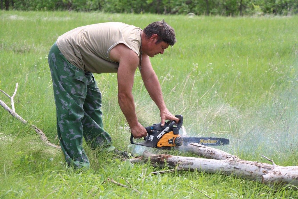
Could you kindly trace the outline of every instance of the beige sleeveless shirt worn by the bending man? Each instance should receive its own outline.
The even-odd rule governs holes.
[[[109,58],[117,44],[125,44],[140,54],[141,28],[121,22],[107,22],[77,27],[57,39],[65,58],[85,72],[117,72],[119,63]]]

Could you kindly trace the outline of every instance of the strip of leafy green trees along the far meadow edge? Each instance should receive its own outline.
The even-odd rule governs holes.
[[[243,16],[298,13],[298,0],[1,0],[2,10]]]

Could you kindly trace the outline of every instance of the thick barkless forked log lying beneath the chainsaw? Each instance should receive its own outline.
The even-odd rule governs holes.
[[[211,174],[233,175],[250,181],[260,182],[278,190],[288,187],[298,190],[298,166],[277,166],[246,161],[224,151],[203,146],[197,143],[188,144],[185,151],[193,152],[204,158],[183,157],[167,154],[151,154],[144,151],[142,157],[132,158],[131,162],[150,161],[155,167],[167,165],[170,169],[177,171],[200,171]],[[211,159],[207,159],[211,158]]]

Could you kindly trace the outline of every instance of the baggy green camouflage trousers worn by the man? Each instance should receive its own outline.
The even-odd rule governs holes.
[[[49,51],[60,146],[70,166],[89,167],[83,137],[92,148],[112,150],[110,135],[103,129],[101,92],[91,72],[73,66],[55,43]]]

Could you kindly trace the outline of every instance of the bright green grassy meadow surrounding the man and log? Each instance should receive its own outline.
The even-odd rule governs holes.
[[[175,29],[178,42],[151,62],[165,103],[173,114],[183,115],[187,134],[229,138],[230,145],[218,148],[241,159],[269,163],[263,154],[280,166],[298,165],[298,16],[1,11],[0,89],[12,95],[18,82],[16,112],[58,144],[47,64],[58,36],[87,24],[121,21],[144,28],[163,18]],[[116,78],[113,73],[96,75],[103,93],[104,127],[114,146],[139,154],[148,148],[130,144]],[[160,122],[138,71],[133,94],[140,123]],[[0,99],[10,105],[1,92]],[[86,145],[85,149],[91,169],[67,168],[59,150],[46,146],[0,107],[0,198],[298,198],[297,191],[274,192],[232,176],[187,171],[152,175],[162,169],[149,163],[132,165]],[[129,182],[141,194],[107,178],[127,186]]]

